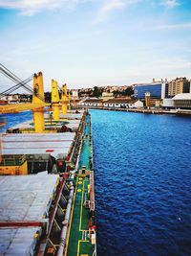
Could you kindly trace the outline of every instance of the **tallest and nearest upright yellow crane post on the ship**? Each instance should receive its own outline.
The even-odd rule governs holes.
[[[33,124],[35,132],[43,132],[44,124],[44,86],[42,72],[33,76],[32,105],[43,105],[33,109]]]

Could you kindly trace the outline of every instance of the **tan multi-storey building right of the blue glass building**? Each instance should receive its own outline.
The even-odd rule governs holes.
[[[180,93],[189,93],[190,81],[186,78],[177,78],[176,80],[169,81],[168,96],[173,97]]]

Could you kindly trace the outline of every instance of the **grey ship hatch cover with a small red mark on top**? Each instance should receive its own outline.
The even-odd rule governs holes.
[[[74,132],[63,133],[8,133],[3,135],[2,154],[51,154],[67,156],[72,150]]]

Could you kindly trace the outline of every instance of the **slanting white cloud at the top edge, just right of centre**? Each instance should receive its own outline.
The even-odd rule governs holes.
[[[126,8],[129,5],[136,4],[138,0],[105,0],[96,14],[95,24],[101,23],[107,19],[111,12]]]

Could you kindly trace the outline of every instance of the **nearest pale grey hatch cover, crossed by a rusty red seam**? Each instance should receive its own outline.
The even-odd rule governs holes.
[[[33,255],[48,223],[58,175],[0,176],[0,255]]]

